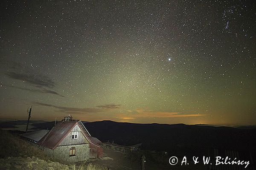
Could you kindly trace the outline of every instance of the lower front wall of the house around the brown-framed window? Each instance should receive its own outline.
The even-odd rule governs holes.
[[[76,156],[69,156],[70,148],[76,147]],[[57,146],[55,150],[44,147],[44,151],[55,159],[69,162],[85,161],[90,158],[89,144]]]

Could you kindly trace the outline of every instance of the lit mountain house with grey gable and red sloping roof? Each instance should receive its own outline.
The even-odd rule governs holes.
[[[71,116],[58,122],[37,142],[50,156],[70,162],[102,158],[100,143],[90,136],[80,120],[73,120]]]

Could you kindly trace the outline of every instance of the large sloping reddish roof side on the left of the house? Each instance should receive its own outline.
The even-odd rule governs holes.
[[[40,139],[37,144],[54,150],[55,147],[57,147],[67,134],[76,126],[76,123],[76,121],[58,122],[58,124],[52,127],[52,129],[42,139]]]

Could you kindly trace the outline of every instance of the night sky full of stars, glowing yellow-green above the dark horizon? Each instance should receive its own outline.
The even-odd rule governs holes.
[[[2,0],[0,118],[256,125],[254,0]]]

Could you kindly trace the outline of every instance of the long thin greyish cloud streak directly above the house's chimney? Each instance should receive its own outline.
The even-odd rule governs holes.
[[[56,110],[56,112],[63,112],[63,113],[98,113],[98,112],[104,112],[109,109],[115,109],[115,108],[71,108],[71,107],[64,107],[64,106],[56,106],[56,105],[42,103],[42,102],[32,102],[32,104],[57,108],[58,110]]]

